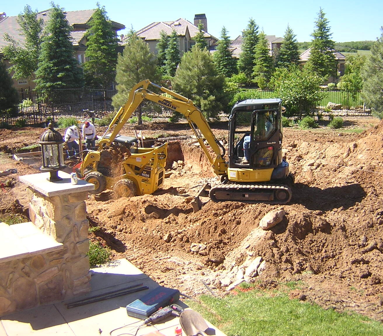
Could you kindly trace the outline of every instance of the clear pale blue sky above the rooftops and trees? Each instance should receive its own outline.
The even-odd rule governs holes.
[[[27,2],[26,2],[27,1]],[[96,7],[97,1],[65,0],[54,1],[67,11],[85,10]],[[208,32],[219,38],[223,26],[234,39],[244,30],[253,18],[260,29],[267,35],[283,37],[289,24],[296,34],[298,42],[311,41],[314,21],[318,17],[319,7],[326,13],[331,27],[332,39],[336,42],[375,40],[381,34],[383,26],[382,0],[322,0],[322,1],[259,1],[259,0],[176,0],[163,1],[102,1],[111,20],[139,30],[154,21],[173,21],[185,18],[193,22],[195,14],[205,13],[208,21]],[[51,7],[48,0],[13,0],[3,1],[0,11],[7,16],[21,13],[25,5],[33,10],[46,10]]]

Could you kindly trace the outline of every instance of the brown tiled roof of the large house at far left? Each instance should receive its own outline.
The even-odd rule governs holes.
[[[79,42],[84,37],[86,31],[86,25],[90,18],[92,17],[94,9],[90,10],[77,10],[77,11],[67,11],[65,13],[65,17],[68,20],[70,26],[74,25],[84,25],[83,29],[80,28],[77,31],[72,31],[70,36],[73,39],[73,45],[79,45]],[[18,16],[7,16],[4,20],[0,21],[0,51],[9,45],[9,42],[5,40],[4,35],[8,33],[8,35],[15,39],[21,46],[25,44],[25,36],[21,32],[20,25],[17,22]],[[46,23],[49,20],[49,10],[41,11],[37,14],[37,18],[42,18]],[[120,30],[125,28],[121,23],[117,23],[112,21],[113,27],[116,30]]]

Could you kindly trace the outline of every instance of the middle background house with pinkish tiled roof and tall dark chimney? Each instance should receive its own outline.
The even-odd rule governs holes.
[[[142,38],[149,45],[152,53],[157,54],[156,46],[159,42],[161,31],[164,31],[164,33],[168,36],[170,36],[173,31],[176,31],[178,36],[178,47],[182,56],[184,52],[189,51],[195,44],[193,38],[195,38],[198,33],[199,23],[203,24],[203,36],[208,43],[209,48],[215,46],[218,39],[208,33],[208,25],[205,14],[196,14],[194,17],[194,24],[182,18],[175,21],[153,22],[137,31],[137,36]]]

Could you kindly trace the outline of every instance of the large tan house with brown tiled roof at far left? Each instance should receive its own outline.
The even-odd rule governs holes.
[[[79,61],[79,64],[85,62],[84,52],[86,49],[85,44],[87,42],[85,32],[89,28],[89,20],[94,12],[94,9],[65,12],[65,17],[68,20],[69,25],[73,28],[70,35],[74,46],[74,57]],[[46,23],[49,20],[49,10],[39,12],[37,18],[43,18]],[[10,38],[14,39],[21,46],[25,44],[25,36],[22,34],[17,19],[18,16],[7,16],[5,13],[0,13],[0,58],[3,56],[3,48],[9,45],[9,42],[5,39],[5,34],[8,34]],[[124,28],[125,26],[121,23],[112,21],[112,29],[115,31],[116,36],[117,31]],[[7,62],[7,60],[5,61]],[[14,85],[16,89],[26,89],[28,87],[33,89],[35,87],[34,82],[28,79],[14,80]]]

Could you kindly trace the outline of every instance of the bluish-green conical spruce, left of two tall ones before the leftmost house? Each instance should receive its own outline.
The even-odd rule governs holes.
[[[53,2],[51,5],[36,70],[36,88],[53,90],[82,87],[82,69],[74,58],[71,27],[63,10]]]

